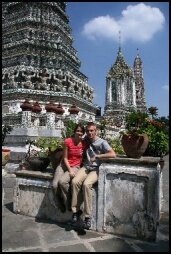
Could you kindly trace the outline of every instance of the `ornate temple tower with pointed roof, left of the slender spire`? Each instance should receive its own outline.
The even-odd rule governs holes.
[[[119,46],[116,61],[106,76],[104,116],[123,120],[127,112],[136,108],[135,99],[134,73],[126,64]]]

